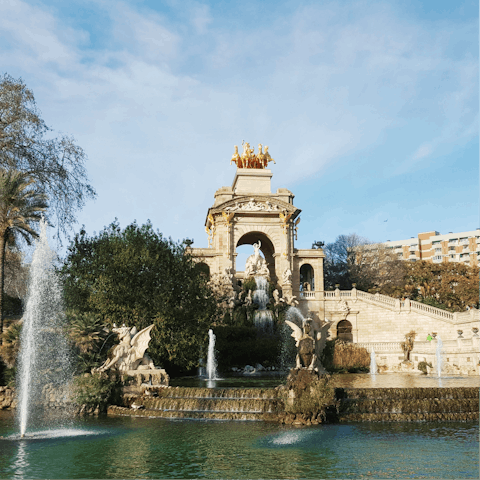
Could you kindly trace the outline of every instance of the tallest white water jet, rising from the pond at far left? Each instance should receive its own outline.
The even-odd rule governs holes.
[[[46,385],[50,384],[66,400],[73,373],[68,344],[63,335],[65,316],[61,289],[54,270],[55,261],[56,254],[48,246],[47,225],[42,220],[40,238],[30,265],[20,335],[17,416],[22,437],[30,426],[32,414],[35,412],[35,420],[41,417],[46,401]]]

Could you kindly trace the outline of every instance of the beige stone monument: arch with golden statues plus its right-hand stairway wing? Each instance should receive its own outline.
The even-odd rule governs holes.
[[[295,247],[301,210],[293,204],[290,190],[271,191],[272,172],[267,168],[270,161],[273,159],[268,147],[263,152],[259,145],[258,153],[254,154],[247,143],[241,155],[235,147],[230,162],[237,167],[233,183],[215,192],[215,200],[207,212],[208,248],[188,249],[202,272],[238,290],[239,284],[258,269],[281,291],[288,305],[298,305],[304,315],[313,318],[313,328],[322,330],[323,339],[327,335],[338,337],[374,351],[382,368],[403,368],[398,366],[403,358],[402,342],[405,333],[414,330],[418,339],[426,338],[428,332],[438,333],[444,342],[446,359],[453,362],[448,371],[477,375],[479,310],[450,313],[409,299],[373,295],[356,288],[324,291],[323,250]],[[246,266],[238,265],[236,249],[248,244],[253,246],[254,253]],[[415,364],[420,361],[435,364],[433,343],[415,341],[412,351]]]

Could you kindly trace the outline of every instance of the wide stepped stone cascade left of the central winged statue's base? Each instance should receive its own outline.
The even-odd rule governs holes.
[[[275,389],[167,387],[125,395],[109,415],[214,420],[268,420],[279,407]],[[153,395],[152,395],[153,394]],[[283,403],[282,403],[283,407]]]

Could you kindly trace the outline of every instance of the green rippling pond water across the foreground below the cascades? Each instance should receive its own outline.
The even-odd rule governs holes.
[[[0,412],[0,478],[478,478],[477,423],[296,428],[100,417],[18,438]]]

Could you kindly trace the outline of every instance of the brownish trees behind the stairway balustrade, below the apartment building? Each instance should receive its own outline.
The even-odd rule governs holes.
[[[357,288],[408,297],[451,312],[479,306],[479,268],[463,263],[407,262],[382,244],[356,234],[340,235],[324,247],[325,289]]]

